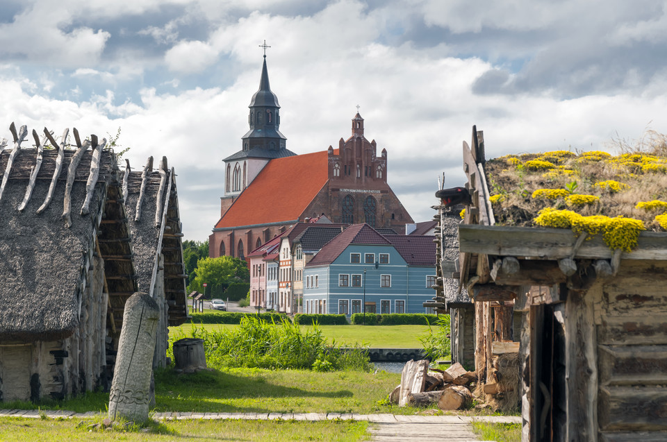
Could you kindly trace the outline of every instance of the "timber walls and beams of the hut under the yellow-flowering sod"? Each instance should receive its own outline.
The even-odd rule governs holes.
[[[667,439],[667,233],[631,253],[571,230],[495,226],[484,139],[463,143],[472,204],[459,227],[459,287],[475,304],[475,368],[518,352],[522,441]],[[513,342],[520,341],[520,342]]]

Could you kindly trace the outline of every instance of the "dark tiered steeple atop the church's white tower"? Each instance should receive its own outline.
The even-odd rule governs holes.
[[[266,46],[268,47],[268,46]],[[266,68],[266,54],[262,66],[259,89],[250,101],[248,124],[250,130],[242,137],[243,151],[260,148],[263,151],[280,151],[286,146],[286,137],[278,130],[280,126],[280,105],[278,97],[271,91],[269,73]]]

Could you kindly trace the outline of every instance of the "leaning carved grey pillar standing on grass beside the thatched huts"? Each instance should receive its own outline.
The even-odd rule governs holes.
[[[148,420],[153,352],[160,309],[147,294],[125,303],[116,366],[109,395],[109,418]]]

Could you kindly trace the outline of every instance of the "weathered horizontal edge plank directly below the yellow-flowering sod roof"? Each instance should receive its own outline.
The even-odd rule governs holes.
[[[459,225],[462,253],[559,260],[570,257],[576,241],[569,229]],[[610,260],[613,255],[602,237],[595,235],[584,241],[575,257]],[[667,233],[641,232],[636,250],[621,253],[620,260],[667,260]]]

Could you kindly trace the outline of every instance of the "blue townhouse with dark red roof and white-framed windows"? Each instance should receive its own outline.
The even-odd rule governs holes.
[[[304,268],[304,312],[424,313],[434,296],[432,236],[381,235],[354,224],[325,244]]]

